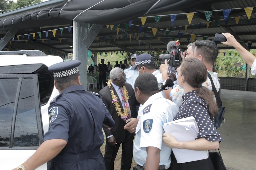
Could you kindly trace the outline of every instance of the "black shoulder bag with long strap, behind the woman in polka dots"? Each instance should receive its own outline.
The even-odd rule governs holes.
[[[219,113],[216,116],[212,117],[213,124],[216,127],[216,129],[218,129],[225,122],[225,119],[224,119],[225,107],[222,106],[222,101],[219,97],[219,93],[217,92],[217,90],[215,88],[215,85],[212,81],[212,78],[211,78],[211,75],[209,72],[208,72],[208,77],[211,80],[212,90],[214,91],[214,95],[215,95],[217,105],[219,108]]]

